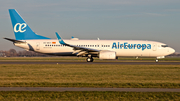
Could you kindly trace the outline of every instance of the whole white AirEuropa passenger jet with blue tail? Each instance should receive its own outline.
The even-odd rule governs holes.
[[[34,33],[15,9],[9,9],[15,39],[12,41],[17,47],[27,51],[56,55],[87,57],[87,62],[93,58],[117,59],[118,57],[155,57],[158,59],[172,54],[175,50],[168,45],[156,41],[144,40],[79,40],[72,37],[62,39],[55,32],[57,39],[51,39]]]

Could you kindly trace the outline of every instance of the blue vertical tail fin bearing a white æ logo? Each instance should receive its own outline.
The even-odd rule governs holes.
[[[50,39],[35,34],[15,9],[9,9],[16,40]]]

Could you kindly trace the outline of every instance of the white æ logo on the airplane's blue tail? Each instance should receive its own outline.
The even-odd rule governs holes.
[[[26,23],[16,23],[15,25],[14,25],[14,32],[21,32],[21,33],[23,33],[23,32],[25,32],[26,31],[26,26],[27,26],[27,24]]]

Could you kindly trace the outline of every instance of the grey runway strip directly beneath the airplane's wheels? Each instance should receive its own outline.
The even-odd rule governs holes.
[[[111,65],[180,65],[180,62],[27,62],[27,61],[0,61],[0,64],[111,64]]]

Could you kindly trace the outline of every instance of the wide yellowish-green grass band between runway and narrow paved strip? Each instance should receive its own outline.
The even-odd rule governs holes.
[[[1,87],[180,88],[180,65],[0,64]]]

